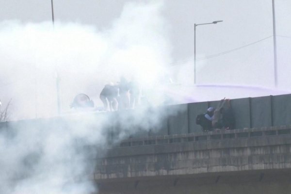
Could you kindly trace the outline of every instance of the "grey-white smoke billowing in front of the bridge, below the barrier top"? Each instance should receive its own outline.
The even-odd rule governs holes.
[[[130,134],[159,129],[165,116],[179,111],[146,107],[10,122],[0,130],[0,193],[97,193],[96,159]]]

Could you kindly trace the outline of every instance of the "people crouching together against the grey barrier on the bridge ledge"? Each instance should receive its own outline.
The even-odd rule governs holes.
[[[206,113],[198,114],[196,124],[200,125],[203,131],[234,129],[235,119],[230,99],[222,99],[216,109],[209,107]]]

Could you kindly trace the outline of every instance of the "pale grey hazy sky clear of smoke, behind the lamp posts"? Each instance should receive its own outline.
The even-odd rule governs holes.
[[[147,0],[55,0],[55,20],[94,25],[99,30],[111,28],[126,2],[150,2]],[[0,19],[16,19],[22,22],[41,22],[51,19],[50,0],[0,0]],[[279,73],[289,60],[284,60],[290,50],[291,1],[275,0]],[[258,41],[273,34],[272,0],[164,0],[162,16],[169,24],[169,41],[172,45],[173,63],[192,60],[194,52],[194,23],[224,20],[216,25],[197,27],[197,57],[205,57]],[[282,36],[289,36],[282,37]],[[204,63],[212,68],[229,63],[264,63],[267,77],[272,73],[272,37],[254,46],[231,52]],[[199,64],[198,64],[199,65]],[[201,65],[201,64],[200,64]],[[259,68],[262,68],[260,66]],[[249,66],[247,65],[247,68]],[[257,69],[256,67],[254,67]],[[209,71],[209,68],[206,68]],[[265,71],[265,70],[264,70]],[[231,77],[227,77],[229,79]],[[240,78],[241,79],[241,78]],[[272,84],[272,79],[262,80]],[[197,79],[211,82],[208,76]],[[217,80],[213,80],[214,82]],[[225,80],[224,82],[226,82]],[[232,82],[231,80],[229,80]],[[279,82],[282,83],[281,79]],[[242,81],[239,81],[242,83]],[[249,83],[246,81],[246,83]],[[259,83],[259,85],[262,83]],[[282,83],[283,84],[283,83]]]

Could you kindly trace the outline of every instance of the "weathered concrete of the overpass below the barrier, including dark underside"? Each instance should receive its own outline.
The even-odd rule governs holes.
[[[242,131],[248,136],[222,138]],[[210,132],[204,141],[178,143],[173,137],[187,136],[164,136],[172,141],[115,147],[97,159],[94,177],[100,194],[290,194],[291,134],[268,131],[226,131],[218,139]]]

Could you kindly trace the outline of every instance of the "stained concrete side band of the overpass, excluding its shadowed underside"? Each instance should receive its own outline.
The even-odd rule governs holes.
[[[116,147],[109,150],[106,158],[99,159],[95,178],[272,169],[291,169],[290,134]]]

